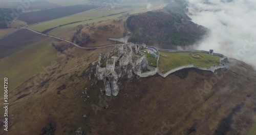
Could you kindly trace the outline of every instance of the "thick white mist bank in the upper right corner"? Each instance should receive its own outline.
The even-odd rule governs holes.
[[[211,30],[196,49],[214,49],[256,68],[256,1],[188,0],[188,9],[192,21]]]

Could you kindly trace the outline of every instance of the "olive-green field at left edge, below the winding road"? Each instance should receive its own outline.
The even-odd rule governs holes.
[[[41,40],[27,46],[8,57],[0,59],[0,76],[8,77],[9,91],[43,71],[42,67],[51,65],[53,60],[59,61],[58,51],[52,46],[51,38]],[[3,84],[0,84],[3,87]],[[3,93],[0,93],[0,98]]]

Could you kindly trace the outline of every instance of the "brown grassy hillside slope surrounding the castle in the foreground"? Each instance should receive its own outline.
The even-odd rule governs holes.
[[[88,79],[90,63],[110,50],[66,50],[52,72],[10,93],[8,133],[42,134],[54,122],[55,134],[74,134],[78,127],[86,134],[247,134],[256,121],[256,72],[241,61],[231,59],[229,70],[217,75],[189,69],[122,80],[120,93],[110,98],[100,96],[102,82]]]

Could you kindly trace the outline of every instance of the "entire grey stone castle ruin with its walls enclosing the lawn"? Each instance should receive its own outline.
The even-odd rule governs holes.
[[[163,50],[158,49],[162,52],[199,52],[207,53],[209,55],[220,56],[219,65],[212,65],[210,68],[196,66],[194,64],[181,65],[175,69],[168,71],[167,73],[159,73],[157,56],[157,67],[150,66],[146,60],[145,54],[140,52],[140,49],[145,49],[146,44],[134,44],[125,43],[116,45],[111,52],[99,54],[98,64],[96,65],[96,72],[94,76],[103,81],[102,90],[107,96],[117,96],[119,93],[119,86],[121,85],[119,80],[121,78],[132,78],[133,75],[139,77],[149,77],[159,74],[162,77],[166,77],[176,71],[188,68],[196,68],[204,71],[215,72],[218,69],[227,69],[225,63],[228,62],[228,58],[222,54],[214,53],[214,50],[199,51],[199,50]],[[154,48],[154,47],[152,47]],[[155,52],[159,54],[159,52]],[[163,56],[166,57],[166,56]]]

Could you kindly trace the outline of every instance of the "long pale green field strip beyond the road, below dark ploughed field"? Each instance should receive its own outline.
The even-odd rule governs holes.
[[[29,26],[29,28],[43,32],[48,29],[55,28],[49,31],[47,34],[58,36],[60,33],[65,32],[68,29],[74,28],[78,25],[90,24],[102,20],[117,19],[124,13],[136,14],[146,12],[145,3],[126,3],[116,9],[103,8],[98,10],[89,10],[81,13],[77,13],[71,16],[54,19],[46,22],[42,22],[36,25]],[[79,21],[79,22],[77,22]],[[73,24],[70,24],[73,23]],[[61,26],[64,25],[64,26]]]

